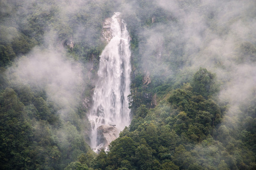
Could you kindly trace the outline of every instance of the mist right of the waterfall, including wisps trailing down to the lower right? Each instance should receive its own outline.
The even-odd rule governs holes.
[[[141,7],[136,1],[130,4],[125,14],[133,18],[131,30],[139,34],[138,68],[144,76],[149,72],[153,81],[160,79],[169,84],[174,81],[180,87],[191,82],[199,68],[215,73],[220,87],[216,98],[219,103],[228,104],[213,136],[222,144],[229,144],[231,139],[226,137],[229,134],[224,135],[228,127],[230,136],[239,138],[236,132],[245,127],[241,122],[249,112],[242,108],[255,100],[256,1],[154,0],[152,6]],[[134,13],[137,17],[133,17]],[[144,26],[136,25],[143,19]],[[250,122],[255,120],[251,118]],[[209,155],[215,154],[219,161],[227,159],[221,153],[223,145],[219,142],[208,145],[211,140],[208,137],[192,151],[205,167]],[[238,144],[235,147],[247,152]],[[212,164],[217,167],[219,162]]]

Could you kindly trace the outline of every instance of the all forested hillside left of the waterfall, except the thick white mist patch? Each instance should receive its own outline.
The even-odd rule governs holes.
[[[95,157],[85,142],[88,136],[84,131],[89,131],[89,126],[84,125],[88,123],[84,122],[82,99],[76,108],[67,110],[72,116],[63,119],[63,106],[49,100],[44,89],[17,85],[6,74],[15,59],[35,46],[47,50],[55,48],[55,43],[65,47],[68,59],[97,66],[104,46],[101,23],[111,4],[91,2],[87,8],[63,15],[63,8],[75,5],[65,1],[0,1],[0,169],[86,170],[87,159]],[[73,47],[71,42],[76,42]],[[82,155],[86,161],[81,164],[77,159]]]

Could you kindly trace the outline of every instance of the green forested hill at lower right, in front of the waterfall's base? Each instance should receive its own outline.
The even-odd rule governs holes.
[[[212,74],[200,68],[192,79],[194,86],[187,83],[172,90],[154,109],[140,105],[130,126],[110,144],[108,154],[100,153],[105,157],[98,156],[93,167],[98,170],[255,169],[254,146],[244,143],[252,142],[255,132],[242,126],[251,117],[226,115],[227,106],[212,97],[214,76],[205,82],[209,75]],[[210,89],[199,92],[198,86]],[[221,123],[230,119],[229,125]],[[247,139],[245,133],[250,134]]]

